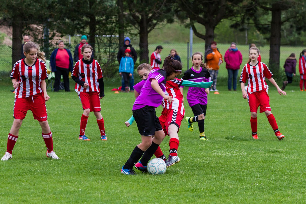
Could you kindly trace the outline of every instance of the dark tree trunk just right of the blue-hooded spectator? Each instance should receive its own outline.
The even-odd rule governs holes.
[[[147,19],[141,16],[141,23],[139,24],[139,62],[149,63],[149,49],[148,49],[148,27]]]

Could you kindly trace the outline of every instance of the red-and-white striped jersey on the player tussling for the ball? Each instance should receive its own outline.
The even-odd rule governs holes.
[[[179,111],[182,115],[184,115],[185,109],[183,105],[183,95],[179,89],[183,80],[175,78],[171,81],[166,81],[166,91],[165,94],[167,96],[172,96],[173,101],[171,104],[165,99],[162,99],[162,106],[166,109],[173,109]]]

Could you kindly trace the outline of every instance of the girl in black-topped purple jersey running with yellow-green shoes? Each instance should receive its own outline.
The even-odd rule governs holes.
[[[208,72],[208,66],[203,62],[203,54],[196,52],[192,55],[192,68],[188,69],[183,76],[183,80],[190,80],[193,82],[208,82],[211,81]],[[183,87],[180,87],[183,89]],[[207,140],[204,132],[204,120],[207,108],[207,94],[209,88],[189,87],[187,92],[187,101],[192,109],[194,117],[186,117],[188,122],[188,129],[193,131],[193,122],[198,122],[200,131],[200,140]]]

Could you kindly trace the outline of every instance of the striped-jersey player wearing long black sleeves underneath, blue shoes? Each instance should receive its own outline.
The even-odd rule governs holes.
[[[72,78],[76,82],[75,91],[83,106],[80,122],[80,140],[90,140],[85,136],[85,129],[90,112],[94,112],[101,133],[101,140],[107,140],[104,120],[101,115],[100,99],[104,97],[104,82],[99,63],[91,58],[92,47],[84,44],[81,48],[83,58],[76,62]]]

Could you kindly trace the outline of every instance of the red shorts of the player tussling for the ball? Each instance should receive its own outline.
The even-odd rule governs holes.
[[[162,115],[158,119],[160,124],[162,125],[162,130],[165,132],[165,135],[168,135],[169,125],[175,124],[177,125],[178,129],[180,129],[181,122],[184,119],[184,116],[177,110],[163,109]]]

